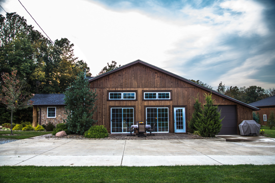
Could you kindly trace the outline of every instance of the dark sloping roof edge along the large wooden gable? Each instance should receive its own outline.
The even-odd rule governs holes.
[[[171,73],[171,72],[168,72],[168,71],[166,71],[166,70],[164,70],[164,69],[161,69],[161,68],[159,68],[159,67],[156,67],[156,66],[154,66],[154,65],[151,65],[151,64],[149,64],[149,63],[146,63],[146,62],[144,62],[144,61],[142,61],[142,60],[135,60],[135,61],[133,61],[133,62],[130,62],[130,63],[126,64],[126,65],[122,65],[121,67],[118,67],[118,68],[113,69],[113,70],[111,70],[111,71],[108,71],[108,72],[105,72],[105,73],[100,74],[100,75],[98,75],[98,76],[95,76],[95,77],[89,79],[88,82],[92,82],[92,81],[94,81],[94,80],[97,80],[97,79],[99,79],[99,78],[102,78],[102,77],[104,77],[104,76],[107,76],[107,75],[109,75],[109,74],[111,74],[111,73],[114,73],[114,72],[117,72],[117,71],[119,71],[119,70],[122,70],[122,69],[124,69],[124,68],[126,68],[126,67],[130,67],[131,65],[134,65],[134,64],[141,64],[141,65],[147,66],[147,67],[149,67],[149,68],[152,68],[152,69],[154,69],[154,70],[157,70],[157,71],[159,71],[159,72],[162,72],[162,73],[164,73],[164,74],[167,74],[167,75],[169,75],[169,76],[171,76],[171,77],[174,77],[174,78],[176,78],[176,79],[179,79],[179,80],[181,80],[181,81],[184,81],[184,82],[186,82],[186,83],[188,83],[188,84],[191,84],[191,85],[193,85],[193,86],[195,86],[195,87],[197,87],[197,88],[200,88],[200,89],[205,90],[205,91],[207,91],[207,92],[210,92],[210,93],[213,93],[213,94],[215,94],[215,95],[218,95],[218,96],[220,96],[220,97],[222,97],[222,98],[225,98],[225,99],[227,99],[227,100],[229,100],[229,101],[235,102],[235,103],[240,104],[240,105],[245,106],[245,107],[248,107],[248,108],[250,108],[250,109],[252,109],[252,110],[254,110],[254,111],[258,111],[258,110],[259,110],[258,108],[254,107],[254,106],[251,106],[251,105],[249,105],[249,104],[243,103],[243,102],[241,102],[241,101],[238,101],[238,100],[233,99],[233,98],[231,98],[231,97],[228,97],[228,96],[226,96],[226,95],[223,95],[223,94],[221,94],[221,93],[218,93],[218,92],[215,91],[215,90],[211,90],[211,89],[209,89],[209,88],[207,88],[207,87],[204,87],[204,86],[201,86],[201,85],[199,85],[199,84],[196,84],[196,83],[194,83],[194,82],[192,82],[192,81],[190,81],[190,80],[188,80],[188,79],[186,79],[186,78],[183,78],[183,77],[181,77],[181,76],[178,76],[178,75],[176,75],[176,74],[173,74],[173,73]]]

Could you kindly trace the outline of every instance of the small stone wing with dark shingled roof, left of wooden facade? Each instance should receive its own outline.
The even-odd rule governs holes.
[[[35,94],[33,101],[32,126],[51,122],[56,125],[67,119],[65,113],[64,94]],[[37,113],[37,108],[39,109]]]

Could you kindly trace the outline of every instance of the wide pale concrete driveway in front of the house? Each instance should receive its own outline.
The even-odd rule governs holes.
[[[253,142],[24,139],[0,145],[0,166],[275,164],[275,141],[267,139]]]

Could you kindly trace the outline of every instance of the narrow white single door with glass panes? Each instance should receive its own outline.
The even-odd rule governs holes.
[[[185,133],[185,107],[174,108],[174,133]]]

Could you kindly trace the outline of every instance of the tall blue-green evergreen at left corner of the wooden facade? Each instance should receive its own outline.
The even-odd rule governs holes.
[[[88,81],[84,73],[80,73],[65,92],[64,104],[66,104],[68,131],[72,134],[83,135],[96,121],[92,119],[97,107],[94,103],[97,99],[96,91],[89,91]]]

